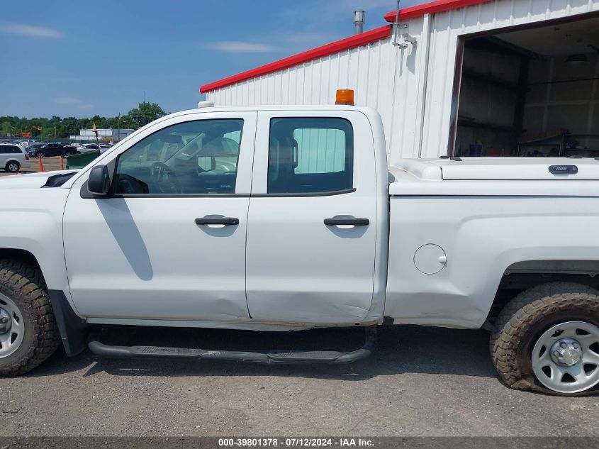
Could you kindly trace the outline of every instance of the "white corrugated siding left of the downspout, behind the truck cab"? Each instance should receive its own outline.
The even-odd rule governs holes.
[[[410,30],[414,33],[419,24],[422,19],[413,21]],[[405,58],[400,52],[390,40],[380,40],[208,92],[208,99],[218,106],[334,104],[337,89],[354,89],[357,105],[381,113],[387,147],[400,142],[403,157],[417,157],[414,125],[422,76],[416,67],[423,65],[416,64],[418,48]]]

